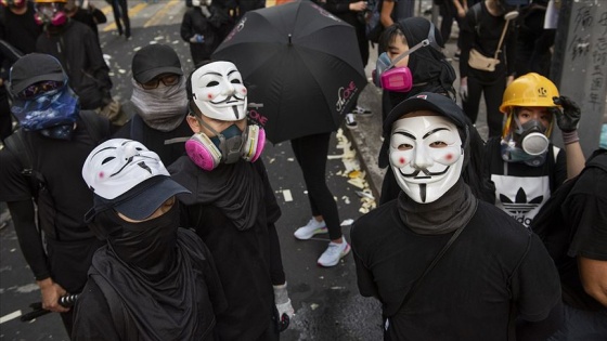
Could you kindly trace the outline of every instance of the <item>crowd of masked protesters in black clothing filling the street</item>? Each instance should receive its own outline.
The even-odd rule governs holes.
[[[518,29],[546,1],[443,1],[443,21],[460,25],[460,79],[447,24],[415,17],[414,1],[382,4],[379,206],[348,242],[326,184],[332,132],[294,139],[312,215],[294,237],[328,233],[323,267],[352,251],[385,340],[605,340],[607,145],[586,161],[584,113],[548,79],[544,50],[516,62]],[[366,65],[367,3],[315,2],[356,27]],[[280,340],[295,309],[266,132],[248,118],[238,65],[211,60],[230,25],[263,4],[227,12],[192,0],[180,35],[194,70],[173,48],[146,45],[124,103],[111,94],[94,8],[86,24],[72,0],[2,4],[0,201],[42,306],[74,340]],[[475,126],[481,94],[487,141]],[[356,114],[371,113],[354,102]],[[563,148],[551,142],[558,131]],[[555,207],[560,221],[546,224]],[[60,304],[69,293],[74,307]]]

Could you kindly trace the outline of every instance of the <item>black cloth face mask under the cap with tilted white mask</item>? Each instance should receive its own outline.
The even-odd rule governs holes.
[[[138,267],[148,278],[170,271],[179,227],[179,201],[176,200],[165,214],[140,223],[124,221],[117,213],[112,213],[113,225],[121,228],[108,235],[107,241],[120,260]]]

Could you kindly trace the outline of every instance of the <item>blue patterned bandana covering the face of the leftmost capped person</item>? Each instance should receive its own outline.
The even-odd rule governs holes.
[[[78,96],[69,87],[49,91],[31,100],[16,99],[11,112],[26,131],[47,130],[49,137],[61,136],[59,130],[73,129],[78,116]],[[64,128],[57,128],[57,127]]]

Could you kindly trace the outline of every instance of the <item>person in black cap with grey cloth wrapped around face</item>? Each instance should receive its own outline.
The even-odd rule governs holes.
[[[169,45],[151,44],[137,51],[131,69],[133,92],[121,106],[131,119],[114,137],[139,141],[171,165],[185,154],[184,143],[192,135],[179,56]]]

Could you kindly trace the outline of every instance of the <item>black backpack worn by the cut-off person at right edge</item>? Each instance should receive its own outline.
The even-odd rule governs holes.
[[[566,181],[546,200],[533,222],[529,226],[540,239],[558,267],[567,260],[567,251],[576,231],[571,228],[567,218],[563,214],[563,205],[578,180],[590,168],[599,168],[607,172],[607,153],[595,155],[586,162],[578,176]]]

